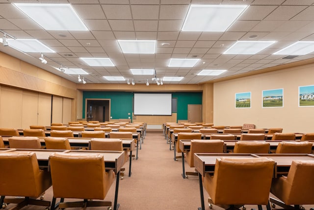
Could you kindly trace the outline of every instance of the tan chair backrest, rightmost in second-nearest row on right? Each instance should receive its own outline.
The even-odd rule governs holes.
[[[313,144],[308,141],[279,142],[276,153],[311,153]]]

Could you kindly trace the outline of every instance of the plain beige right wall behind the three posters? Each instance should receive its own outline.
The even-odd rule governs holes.
[[[253,75],[213,85],[215,125],[254,123],[283,132],[314,132],[314,107],[298,107],[298,87],[314,85],[314,64]],[[283,89],[284,107],[262,108],[262,90]],[[251,108],[235,108],[235,93],[251,92]]]

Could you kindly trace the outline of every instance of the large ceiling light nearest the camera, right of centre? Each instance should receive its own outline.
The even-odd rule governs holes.
[[[183,31],[226,31],[248,5],[192,4],[185,17]]]

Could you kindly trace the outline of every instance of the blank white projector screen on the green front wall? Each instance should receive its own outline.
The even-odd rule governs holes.
[[[171,115],[171,93],[134,93],[134,115]]]

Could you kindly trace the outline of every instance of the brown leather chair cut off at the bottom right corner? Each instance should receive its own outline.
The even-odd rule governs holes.
[[[313,205],[313,177],[314,161],[293,160],[288,176],[272,181],[270,192],[279,200],[270,197],[269,201],[284,209],[300,209],[300,205]]]

